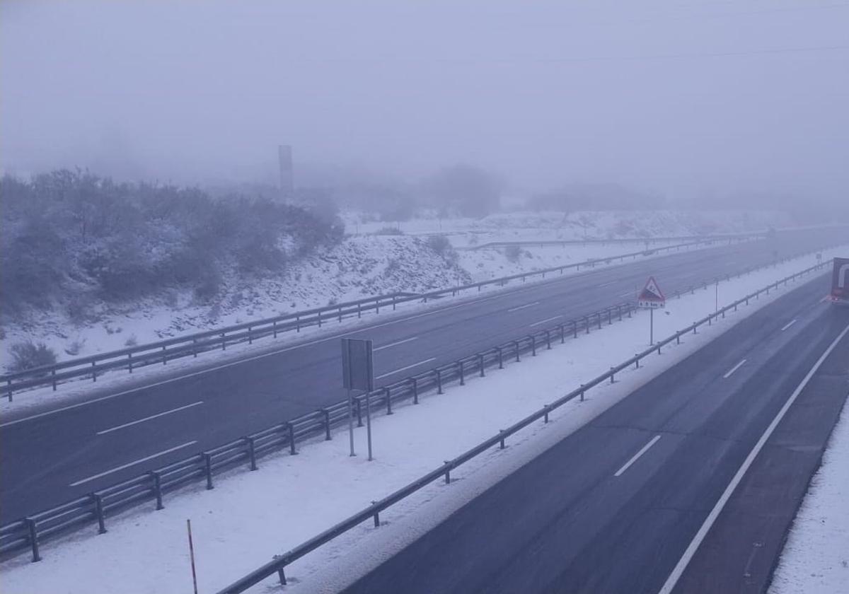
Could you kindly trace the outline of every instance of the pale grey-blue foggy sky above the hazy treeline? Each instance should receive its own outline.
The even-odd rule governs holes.
[[[5,171],[847,199],[849,3],[0,3]]]

